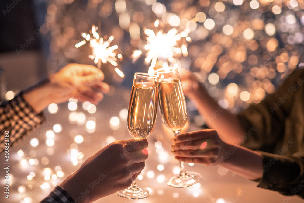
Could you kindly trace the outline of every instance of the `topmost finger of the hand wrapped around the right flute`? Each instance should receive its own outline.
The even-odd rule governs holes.
[[[213,129],[206,129],[206,130],[188,132],[188,133],[185,133],[185,134],[175,136],[173,138],[173,143],[208,139],[208,138],[211,138],[214,135],[217,135],[217,132]]]

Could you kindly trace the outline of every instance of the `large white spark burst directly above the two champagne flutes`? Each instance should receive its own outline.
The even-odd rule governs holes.
[[[159,20],[154,23],[155,27],[158,27]],[[147,50],[146,62],[151,61],[151,67],[155,67],[158,58],[168,59],[169,62],[174,62],[174,57],[179,54],[184,56],[188,55],[186,44],[179,45],[179,40],[182,37],[188,37],[189,30],[184,30],[178,33],[176,28],[164,33],[163,30],[159,30],[154,33],[151,29],[144,29],[147,35],[147,44],[145,49]]]

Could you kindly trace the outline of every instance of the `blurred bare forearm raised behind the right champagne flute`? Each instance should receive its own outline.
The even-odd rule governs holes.
[[[240,144],[245,132],[236,115],[220,107],[201,84],[189,91],[187,96],[196,101],[198,111],[205,117],[209,128],[215,129],[225,142]]]

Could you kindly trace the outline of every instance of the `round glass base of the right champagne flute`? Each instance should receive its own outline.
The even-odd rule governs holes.
[[[171,187],[188,187],[202,179],[200,173],[187,171],[185,175],[177,174],[168,177],[167,184]]]

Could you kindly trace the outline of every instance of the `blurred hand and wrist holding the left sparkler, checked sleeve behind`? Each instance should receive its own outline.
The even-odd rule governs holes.
[[[69,98],[97,104],[103,93],[109,92],[103,79],[103,72],[92,65],[69,64],[38,82],[38,88],[26,90],[23,97],[37,113],[51,103],[63,103]]]

